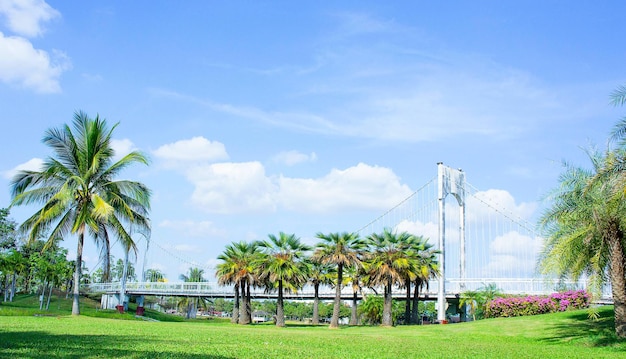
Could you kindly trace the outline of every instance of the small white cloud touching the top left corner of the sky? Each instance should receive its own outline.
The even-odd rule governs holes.
[[[61,14],[43,0],[3,0],[0,1],[0,16],[12,32],[36,37],[43,33],[43,23]]]

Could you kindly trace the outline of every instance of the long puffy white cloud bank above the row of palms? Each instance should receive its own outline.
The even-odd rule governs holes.
[[[411,194],[389,168],[359,163],[321,178],[268,176],[259,162],[195,165],[184,171],[191,201],[212,213],[385,210]]]

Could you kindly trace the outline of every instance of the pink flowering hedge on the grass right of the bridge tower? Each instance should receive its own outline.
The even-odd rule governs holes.
[[[587,308],[590,298],[589,293],[584,290],[570,290],[549,296],[496,298],[485,306],[485,317],[519,317]]]

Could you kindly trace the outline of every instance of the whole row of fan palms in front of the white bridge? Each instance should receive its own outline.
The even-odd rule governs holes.
[[[393,325],[392,289],[406,288],[405,322],[417,322],[419,292],[439,275],[437,250],[427,239],[390,229],[361,238],[357,233],[318,233],[315,246],[303,243],[295,234],[270,234],[264,241],[234,242],[218,256],[216,276],[222,285],[233,285],[235,302],[232,322],[251,322],[250,288],[277,292],[276,325],[285,326],[283,294],[297,292],[304,285],[314,289],[313,324],[319,324],[319,288],[335,288],[330,328],[339,326],[342,287],[353,292],[349,324],[356,325],[357,298],[365,286],[375,292],[382,288],[383,326]],[[411,288],[414,289],[411,302]]]

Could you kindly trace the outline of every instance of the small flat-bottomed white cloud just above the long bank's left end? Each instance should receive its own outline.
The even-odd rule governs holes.
[[[154,155],[168,161],[220,161],[228,159],[224,144],[209,141],[202,136],[166,144],[154,151]]]

